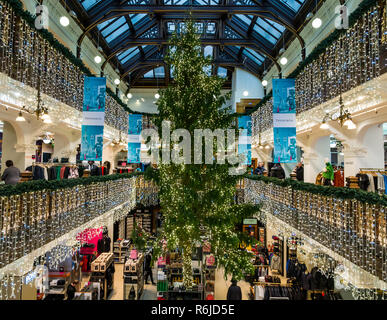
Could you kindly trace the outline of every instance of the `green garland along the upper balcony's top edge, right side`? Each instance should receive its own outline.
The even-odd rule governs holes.
[[[363,0],[357,7],[357,9],[351,13],[349,16],[349,27],[352,27],[362,16],[364,13],[366,13],[370,8],[375,6],[378,3],[379,0]],[[318,59],[322,53],[326,51],[326,49],[336,40],[340,38],[341,35],[343,35],[346,32],[345,29],[336,29],[333,31],[329,36],[327,36],[324,40],[322,40],[314,49],[313,51],[306,57],[302,62],[300,62],[297,66],[297,68],[290,73],[286,78],[292,79],[297,78],[297,76],[305,69],[305,67]],[[239,116],[242,115],[251,115],[253,112],[257,111],[259,108],[261,108],[271,97],[273,96],[272,91],[270,91],[253,109],[250,111],[247,111],[243,114],[239,114]]]

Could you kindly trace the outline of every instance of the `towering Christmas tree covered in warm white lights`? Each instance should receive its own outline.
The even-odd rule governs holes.
[[[154,123],[159,136],[162,137],[163,121],[171,122],[171,131],[185,129],[192,137],[197,129],[235,128],[235,116],[230,108],[224,107],[231,95],[222,94],[223,79],[208,74],[212,59],[204,56],[200,34],[192,20],[186,22],[184,32],[172,36],[169,48],[165,61],[173,70],[174,81],[161,90],[157,102],[159,114]],[[172,149],[173,145],[172,141]],[[219,157],[219,145],[214,139],[215,160]],[[191,147],[194,150],[193,138]],[[239,280],[245,272],[252,271],[251,255],[241,250],[240,244],[252,244],[253,239],[236,226],[257,211],[252,205],[235,204],[236,185],[241,178],[230,175],[229,169],[235,164],[194,164],[194,156],[192,152],[191,164],[159,163],[157,170],[148,172],[160,188],[164,216],[155,253],[182,249],[183,281],[187,288],[192,286],[193,248],[204,239],[210,242],[216,263],[225,269],[226,276]]]

